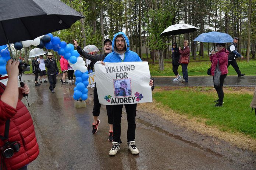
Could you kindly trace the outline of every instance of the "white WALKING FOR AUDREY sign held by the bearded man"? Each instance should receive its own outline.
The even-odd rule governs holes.
[[[99,102],[105,105],[152,102],[147,62],[95,63]]]

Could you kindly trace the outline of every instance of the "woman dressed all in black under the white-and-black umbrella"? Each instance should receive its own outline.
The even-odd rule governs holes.
[[[177,43],[173,43],[173,48],[171,49],[171,62],[173,64],[173,73],[176,76],[173,81],[178,81],[181,78],[181,75],[178,73],[179,67],[179,48],[177,47]]]

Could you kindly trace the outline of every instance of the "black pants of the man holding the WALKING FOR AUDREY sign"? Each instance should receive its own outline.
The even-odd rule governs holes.
[[[114,133],[114,141],[118,143],[122,143],[121,141],[121,119],[122,119],[122,107],[123,104],[112,105],[112,111],[114,115],[114,123],[113,123],[113,133]],[[125,104],[126,117],[128,122],[127,129],[127,142],[135,140],[135,117],[136,117],[136,108],[137,104]]]

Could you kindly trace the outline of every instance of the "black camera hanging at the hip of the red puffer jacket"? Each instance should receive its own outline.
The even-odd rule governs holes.
[[[19,151],[19,147],[21,146],[21,144],[19,144],[17,141],[15,142],[6,142],[6,144],[4,144],[3,148],[2,148],[2,155],[5,158],[11,158],[14,154],[14,152],[18,152]]]

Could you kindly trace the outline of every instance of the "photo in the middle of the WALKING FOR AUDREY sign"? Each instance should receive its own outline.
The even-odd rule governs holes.
[[[114,80],[115,96],[131,96],[131,82],[129,78]]]

